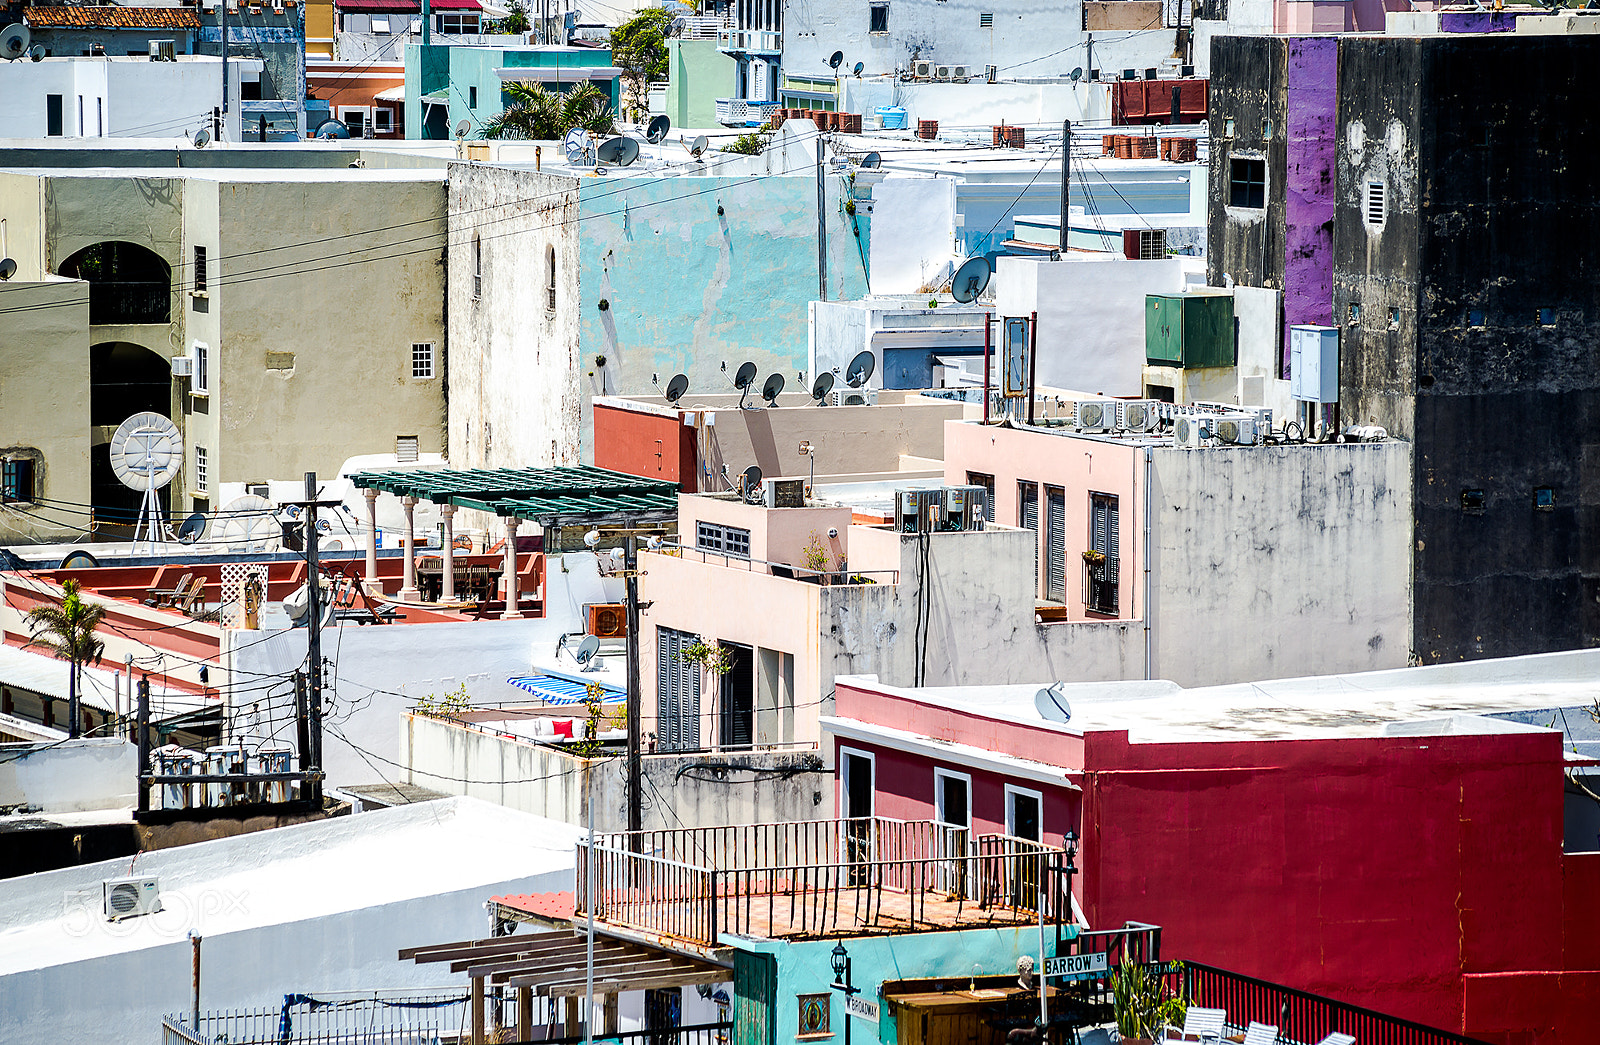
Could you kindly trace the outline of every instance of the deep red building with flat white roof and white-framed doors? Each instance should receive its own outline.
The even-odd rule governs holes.
[[[824,735],[846,815],[1038,837],[1018,813],[1037,794],[1043,840],[1082,835],[1091,928],[1154,922],[1170,957],[1490,1042],[1578,1043],[1600,1040],[1600,810],[1566,786],[1587,760],[1491,717],[1570,704],[1587,722],[1600,683],[1542,685],[1574,666],[1600,677],[1578,653],[1059,687],[1067,723],[1035,687],[840,679]]]

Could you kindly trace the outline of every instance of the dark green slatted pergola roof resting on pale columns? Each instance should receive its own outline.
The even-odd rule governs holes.
[[[635,527],[678,514],[677,483],[592,466],[358,472],[350,482],[542,527]]]

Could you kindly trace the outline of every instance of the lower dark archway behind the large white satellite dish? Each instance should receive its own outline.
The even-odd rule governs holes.
[[[144,494],[123,486],[110,470],[109,434],[136,413],[173,413],[173,368],[157,352],[128,341],[107,341],[90,349],[90,501],[98,535],[133,533]],[[171,486],[160,491],[162,509],[171,510]],[[110,528],[107,531],[107,527]]]

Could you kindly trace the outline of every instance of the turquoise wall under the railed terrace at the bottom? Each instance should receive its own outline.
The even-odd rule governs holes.
[[[1077,935],[1075,928],[1067,930]],[[834,983],[834,946],[845,944],[850,952],[850,981],[861,987],[861,997],[878,1000],[878,1026],[851,1016],[853,1042],[878,1040],[894,1045],[896,1027],[888,1005],[878,997],[878,987],[890,979],[922,979],[928,976],[1014,976],[1019,955],[1038,959],[1038,928],[973,928],[947,933],[902,933],[898,936],[854,936],[840,939],[806,939],[798,943],[781,939],[744,939],[723,936],[725,944],[771,954],[778,962],[778,994],[773,1000],[778,1045],[792,1045],[800,1026],[802,994],[830,994],[829,1029],[835,1042],[843,1042],[845,1002]],[[1054,927],[1045,927],[1045,947],[1050,955],[1056,949]],[[976,967],[976,968],[974,968]]]

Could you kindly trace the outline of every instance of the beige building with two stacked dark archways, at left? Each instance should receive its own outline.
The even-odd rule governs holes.
[[[0,170],[0,301],[51,299],[0,338],[0,448],[37,461],[0,541],[126,520],[109,440],[139,411],[184,435],[178,518],[221,483],[445,448],[442,170]]]

